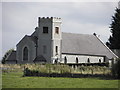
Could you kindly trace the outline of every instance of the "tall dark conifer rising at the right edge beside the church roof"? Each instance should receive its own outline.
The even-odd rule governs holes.
[[[110,49],[120,49],[120,9],[116,8],[112,23],[110,24],[111,33],[106,45]]]

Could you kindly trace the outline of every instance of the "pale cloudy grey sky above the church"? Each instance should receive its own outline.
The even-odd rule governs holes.
[[[0,58],[26,34],[34,32],[38,17],[60,17],[62,32],[95,32],[105,43],[111,34],[109,27],[117,6],[117,2],[2,2]]]

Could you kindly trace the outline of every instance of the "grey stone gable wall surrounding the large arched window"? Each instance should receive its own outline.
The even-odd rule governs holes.
[[[23,61],[23,49],[28,48],[28,61]],[[33,63],[33,60],[36,57],[36,48],[33,41],[31,41],[27,36],[25,36],[18,44],[16,51],[16,59],[17,63],[25,64],[25,63]]]

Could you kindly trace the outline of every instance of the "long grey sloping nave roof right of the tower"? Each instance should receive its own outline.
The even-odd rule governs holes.
[[[62,53],[117,57],[95,35],[62,33]]]

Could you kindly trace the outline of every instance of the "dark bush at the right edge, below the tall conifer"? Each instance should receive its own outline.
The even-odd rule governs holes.
[[[112,63],[112,76],[120,79],[120,58],[116,59],[116,62]]]

